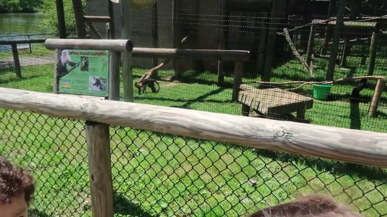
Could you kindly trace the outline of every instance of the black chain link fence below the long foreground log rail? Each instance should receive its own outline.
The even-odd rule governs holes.
[[[0,154],[33,170],[32,216],[90,216],[84,122],[0,110]],[[243,216],[313,192],[387,215],[385,169],[111,126],[115,216]]]

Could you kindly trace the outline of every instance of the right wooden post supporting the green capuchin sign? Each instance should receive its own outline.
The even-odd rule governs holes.
[[[109,100],[120,100],[120,53],[110,51],[109,56]]]

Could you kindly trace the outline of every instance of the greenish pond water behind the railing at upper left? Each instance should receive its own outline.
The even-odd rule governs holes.
[[[46,33],[39,27],[43,13],[0,14],[0,40],[43,38]],[[28,44],[27,44],[28,45]],[[18,46],[25,46],[19,44]],[[0,45],[0,52],[9,51],[10,45]]]

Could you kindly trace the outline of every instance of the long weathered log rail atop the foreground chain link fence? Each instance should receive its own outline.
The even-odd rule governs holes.
[[[381,132],[12,88],[0,88],[0,108],[387,168]]]

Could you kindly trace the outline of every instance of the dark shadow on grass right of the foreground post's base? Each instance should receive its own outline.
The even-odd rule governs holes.
[[[130,216],[141,216],[141,217],[153,217],[143,210],[139,205],[130,202],[125,195],[117,192],[113,192],[113,206],[114,213],[121,215],[130,215]],[[157,215],[156,215],[157,216]]]

